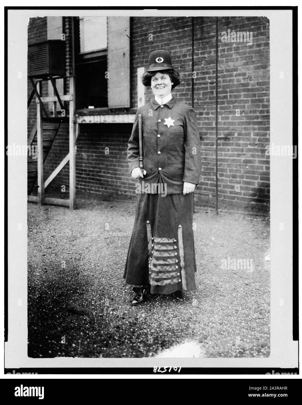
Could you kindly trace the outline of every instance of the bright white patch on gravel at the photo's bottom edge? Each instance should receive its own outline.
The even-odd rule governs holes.
[[[205,357],[205,349],[202,344],[195,340],[184,340],[180,343],[173,343],[173,345],[158,350],[154,354],[155,358],[194,358]]]

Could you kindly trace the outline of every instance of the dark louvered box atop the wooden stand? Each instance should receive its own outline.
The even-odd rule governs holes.
[[[28,46],[31,77],[65,75],[65,41],[48,40]]]

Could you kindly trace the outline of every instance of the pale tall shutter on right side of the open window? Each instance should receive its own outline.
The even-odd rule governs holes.
[[[108,107],[130,107],[130,17],[108,17]]]

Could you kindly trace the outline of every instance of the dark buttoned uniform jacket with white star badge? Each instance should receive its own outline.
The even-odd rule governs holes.
[[[142,115],[144,170],[147,172],[144,179],[139,178],[139,183],[162,181],[166,183],[167,194],[182,193],[184,181],[197,185],[201,153],[194,109],[173,96],[163,106],[154,98],[139,107],[128,143],[130,173],[139,167],[138,114]]]

